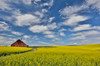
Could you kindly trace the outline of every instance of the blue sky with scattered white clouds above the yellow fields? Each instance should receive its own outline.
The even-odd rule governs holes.
[[[100,43],[100,0],[0,0],[0,45]]]

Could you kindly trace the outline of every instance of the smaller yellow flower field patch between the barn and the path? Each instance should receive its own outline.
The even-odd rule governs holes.
[[[6,56],[10,54],[16,54],[16,53],[22,53],[32,50],[32,48],[26,48],[26,47],[4,47],[0,46],[0,56]]]

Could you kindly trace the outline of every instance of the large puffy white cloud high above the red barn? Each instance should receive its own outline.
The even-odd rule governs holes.
[[[32,14],[24,14],[24,15],[16,16],[15,25],[28,26],[34,23],[40,23],[40,19]]]

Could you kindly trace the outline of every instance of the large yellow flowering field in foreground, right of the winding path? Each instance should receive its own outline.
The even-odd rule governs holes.
[[[100,44],[39,47],[0,57],[0,66],[100,66]]]

